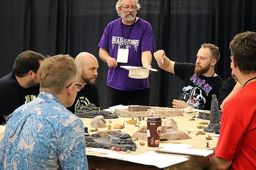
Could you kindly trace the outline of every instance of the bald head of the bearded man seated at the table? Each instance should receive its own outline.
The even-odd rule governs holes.
[[[99,68],[97,58],[90,53],[81,52],[76,56],[75,62],[79,66],[82,80],[88,84],[94,84]]]

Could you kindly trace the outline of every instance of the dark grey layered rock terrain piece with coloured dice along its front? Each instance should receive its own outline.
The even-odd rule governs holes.
[[[136,149],[136,143],[132,141],[131,136],[123,132],[113,132],[113,135],[100,136],[93,134],[86,136],[86,147],[111,149],[111,147],[120,148],[121,151]]]

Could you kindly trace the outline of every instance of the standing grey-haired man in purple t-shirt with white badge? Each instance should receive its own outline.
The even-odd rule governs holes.
[[[148,79],[128,77],[120,66],[151,67],[155,51],[153,30],[147,21],[136,16],[138,0],[119,0],[116,10],[120,18],[105,28],[98,44],[99,57],[109,66],[106,86],[106,106],[149,105]]]

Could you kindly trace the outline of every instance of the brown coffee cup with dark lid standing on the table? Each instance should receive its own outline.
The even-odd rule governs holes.
[[[147,146],[159,147],[161,134],[161,117],[148,117],[147,120]]]

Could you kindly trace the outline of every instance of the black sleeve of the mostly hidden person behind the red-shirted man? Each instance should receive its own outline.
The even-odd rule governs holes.
[[[235,85],[236,83],[234,82],[234,78],[232,76],[225,80],[220,89],[219,106],[222,104],[222,102],[228,96],[228,94],[233,90]]]

